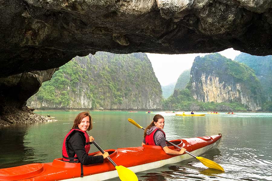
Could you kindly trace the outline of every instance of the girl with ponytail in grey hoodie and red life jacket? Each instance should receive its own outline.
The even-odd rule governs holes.
[[[174,151],[168,148],[165,139],[165,133],[162,130],[164,129],[164,117],[160,114],[156,114],[149,126],[144,131],[144,140],[142,142],[142,146],[144,144],[161,146],[165,153],[180,155],[186,151],[185,148],[182,148],[180,151]]]

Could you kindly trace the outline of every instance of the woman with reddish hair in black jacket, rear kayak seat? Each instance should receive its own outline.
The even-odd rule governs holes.
[[[99,152],[93,156],[88,155],[90,144],[92,144],[94,138],[89,136],[86,131],[91,129],[91,115],[88,112],[79,113],[74,120],[72,129],[64,138],[62,147],[63,161],[81,163],[81,166],[104,162],[104,159],[109,156],[107,151],[104,154]],[[83,166],[81,167],[81,177],[83,177]]]

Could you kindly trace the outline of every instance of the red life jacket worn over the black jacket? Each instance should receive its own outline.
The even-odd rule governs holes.
[[[71,163],[79,163],[79,160],[78,160],[78,157],[76,156],[76,154],[75,155],[68,155],[68,152],[67,152],[67,150],[68,150],[67,142],[68,142],[68,139],[69,139],[70,135],[73,132],[80,132],[85,137],[85,140],[86,140],[85,151],[86,151],[87,154],[90,151],[90,139],[89,139],[88,133],[85,132],[85,131],[82,131],[80,129],[71,129],[70,132],[65,136],[65,138],[63,140],[62,157],[63,157],[63,161],[68,161],[68,162],[71,162]]]

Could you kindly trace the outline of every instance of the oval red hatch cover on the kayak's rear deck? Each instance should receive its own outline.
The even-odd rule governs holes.
[[[0,170],[0,180],[14,181],[28,179],[41,174],[43,164],[27,164],[18,167],[3,168]]]

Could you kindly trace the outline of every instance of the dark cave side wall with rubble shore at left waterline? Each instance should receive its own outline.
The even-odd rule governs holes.
[[[32,71],[0,78],[0,126],[14,122],[47,121],[43,116],[33,114],[26,105],[42,82],[49,80],[58,68],[46,71]]]

